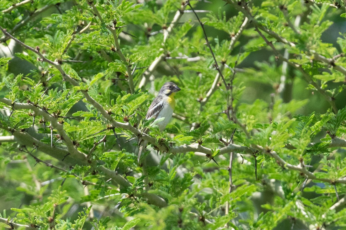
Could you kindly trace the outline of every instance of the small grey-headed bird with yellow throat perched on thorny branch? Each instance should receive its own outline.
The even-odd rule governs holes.
[[[149,106],[147,115],[145,117],[146,120],[151,118],[160,119],[165,118],[164,120],[158,122],[156,125],[160,128],[160,132],[162,132],[168,122],[172,118],[173,110],[175,107],[174,94],[180,90],[176,84],[173,82],[166,82],[161,87],[158,92],[157,97],[153,100],[151,105]],[[148,129],[145,129],[143,132],[146,133]],[[139,142],[139,152],[138,152],[138,162],[140,159],[140,155],[143,152],[143,149],[147,146],[148,141],[141,140]]]

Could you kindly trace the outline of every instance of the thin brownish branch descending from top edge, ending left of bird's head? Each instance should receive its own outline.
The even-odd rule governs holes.
[[[114,38],[114,43],[115,43],[115,51],[116,53],[119,55],[120,59],[124,62],[125,66],[126,66],[126,71],[127,71],[127,75],[125,75],[125,77],[128,78],[128,84],[130,87],[130,91],[133,94],[135,92],[135,86],[134,86],[134,82],[133,82],[133,75],[132,75],[132,71],[131,71],[131,60],[127,60],[126,57],[124,56],[124,54],[121,52],[120,49],[120,44],[118,41],[118,36],[117,36],[117,27],[116,27],[116,22],[113,22],[113,26],[109,26],[108,24],[104,23],[102,16],[100,14],[100,12],[97,10],[96,6],[94,5],[93,2],[90,3],[90,6],[92,8],[92,10],[94,11],[94,13],[96,14],[96,16],[100,19],[102,24],[106,25],[106,28],[112,33],[113,38]]]

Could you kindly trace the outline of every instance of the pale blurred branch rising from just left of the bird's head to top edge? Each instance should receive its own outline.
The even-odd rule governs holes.
[[[186,6],[187,6],[186,4],[182,5],[181,8],[175,12],[174,18],[172,22],[170,23],[169,27],[166,30],[164,30],[164,42],[166,41],[169,34],[172,32],[172,29],[174,28],[174,26],[176,26],[180,18],[183,16]],[[163,49],[160,49],[160,50],[163,50]],[[151,63],[148,69],[143,73],[143,77],[140,80],[138,85],[139,89],[142,89],[146,85],[147,81],[149,80],[149,77],[152,76],[158,64],[164,61],[165,58],[166,58],[166,54],[164,53],[160,54],[160,56],[155,58],[155,60]]]

